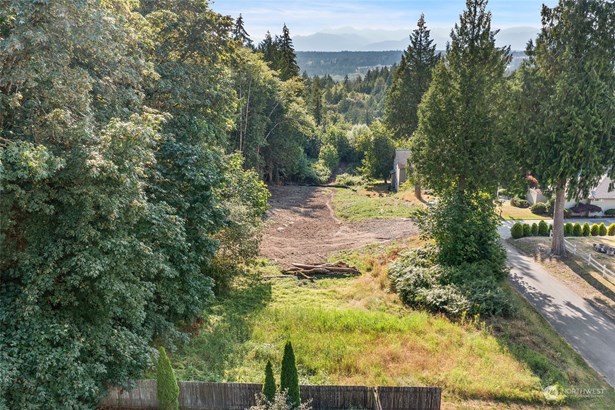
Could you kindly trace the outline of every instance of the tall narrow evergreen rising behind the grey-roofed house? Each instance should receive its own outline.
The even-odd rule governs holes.
[[[410,45],[393,73],[393,83],[385,101],[385,122],[396,140],[409,140],[418,127],[418,107],[429,88],[431,73],[437,63],[436,45],[429,37],[425,16],[410,35]],[[414,192],[420,200],[421,185],[414,176]]]

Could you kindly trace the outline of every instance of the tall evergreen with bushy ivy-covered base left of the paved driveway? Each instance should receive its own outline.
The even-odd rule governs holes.
[[[419,106],[419,126],[411,141],[411,161],[421,181],[448,197],[454,210],[447,216],[439,207],[434,215],[446,218],[455,230],[436,238],[441,250],[449,249],[441,255],[450,264],[482,259],[490,245],[498,247],[496,224],[477,227],[473,234],[462,229],[468,225],[466,210],[480,210],[485,221],[492,220],[493,196],[504,172],[499,105],[510,52],[495,46],[486,6],[486,0],[466,1],[446,58],[436,65]],[[452,216],[459,220],[451,221]],[[437,221],[433,225],[439,226]]]

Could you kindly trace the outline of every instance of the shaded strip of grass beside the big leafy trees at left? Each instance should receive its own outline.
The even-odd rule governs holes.
[[[178,378],[224,381],[225,371],[243,359],[245,342],[252,333],[251,318],[267,306],[271,295],[271,283],[244,279],[233,292],[209,306],[199,334],[174,355]]]

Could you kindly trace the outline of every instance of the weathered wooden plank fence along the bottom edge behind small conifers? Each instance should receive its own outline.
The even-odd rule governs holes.
[[[256,404],[260,384],[179,382],[184,410],[243,410]],[[442,391],[436,387],[301,386],[302,401],[314,410],[439,410]],[[134,389],[113,389],[104,410],[158,408],[156,381],[140,380]]]

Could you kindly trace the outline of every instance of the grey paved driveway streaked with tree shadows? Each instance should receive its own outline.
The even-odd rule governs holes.
[[[501,230],[502,232],[503,228]],[[510,280],[555,330],[615,387],[615,322],[545,268],[505,243]]]

